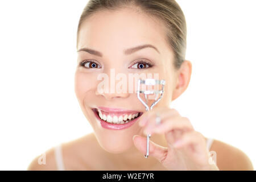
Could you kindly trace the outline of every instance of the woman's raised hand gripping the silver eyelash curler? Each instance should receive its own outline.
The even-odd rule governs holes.
[[[156,125],[156,113],[161,123]],[[155,107],[142,115],[139,125],[147,134],[164,134],[168,147],[159,146],[150,140],[149,156],[158,159],[168,170],[219,170],[209,163],[209,152],[204,136],[195,131],[186,117],[168,107]],[[146,154],[146,138],[135,135],[134,144]]]

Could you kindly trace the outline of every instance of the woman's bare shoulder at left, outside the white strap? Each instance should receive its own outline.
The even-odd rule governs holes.
[[[50,148],[41,155],[36,156],[29,164],[28,171],[53,171],[57,170],[55,162],[54,147]]]

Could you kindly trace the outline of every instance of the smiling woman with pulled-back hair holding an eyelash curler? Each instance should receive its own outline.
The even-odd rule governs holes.
[[[89,1],[77,30],[75,92],[94,133],[51,148],[45,165],[38,156],[28,169],[253,170],[244,152],[218,140],[210,145],[189,118],[170,108],[191,78],[186,36],[184,14],[175,1]],[[103,91],[98,76],[110,76],[112,70],[126,77],[158,74],[166,81],[164,97],[145,111],[136,93]],[[152,136],[144,158],[147,134]]]

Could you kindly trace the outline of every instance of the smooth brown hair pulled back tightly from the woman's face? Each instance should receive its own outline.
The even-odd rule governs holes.
[[[179,69],[185,60],[187,25],[183,11],[175,0],[90,0],[80,16],[77,42],[81,24],[90,15],[100,10],[118,10],[125,7],[141,10],[146,15],[163,21],[167,31],[165,40],[174,51],[174,68]]]

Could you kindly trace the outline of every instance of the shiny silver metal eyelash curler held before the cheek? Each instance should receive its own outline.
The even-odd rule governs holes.
[[[160,90],[141,90],[141,85],[162,85],[162,89]],[[138,80],[138,90],[137,90],[137,97],[139,99],[139,101],[142,102],[142,104],[144,106],[146,106],[146,111],[148,111],[149,109],[151,110],[156,104],[158,104],[158,102],[160,101],[160,99],[163,97],[163,93],[164,93],[164,85],[166,84],[165,80],[155,80],[152,78],[147,78],[146,80],[142,80],[139,79]],[[144,94],[146,103],[142,100],[142,98],[139,96],[140,93]],[[155,94],[155,101],[153,102],[153,104],[149,107],[148,106],[148,98],[147,96],[150,94]],[[158,98],[158,94],[160,94],[160,97]],[[158,99],[157,99],[158,98]],[[149,140],[150,140],[151,134],[147,134],[147,154],[144,155],[145,158],[148,157],[148,153],[149,153]]]

